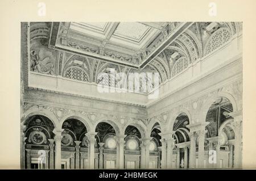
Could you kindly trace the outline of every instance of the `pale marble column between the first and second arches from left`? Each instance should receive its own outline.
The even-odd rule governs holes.
[[[61,169],[61,140],[62,135],[61,133],[64,131],[64,129],[53,129],[53,133],[55,134],[54,140],[55,140],[55,169]]]

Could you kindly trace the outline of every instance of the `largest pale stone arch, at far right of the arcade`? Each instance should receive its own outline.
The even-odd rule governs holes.
[[[219,97],[225,97],[226,99],[228,99],[230,101],[230,103],[233,106],[233,112],[238,111],[237,109],[237,100],[234,98],[233,95],[229,94],[229,92],[218,92],[216,95],[212,95],[210,96],[210,98],[207,99],[207,101],[203,104],[203,106],[201,107],[201,111],[200,111],[200,115],[199,115],[199,122],[204,123],[207,117],[207,112],[210,108],[210,106],[212,105],[212,103],[214,102],[214,100],[216,100]]]

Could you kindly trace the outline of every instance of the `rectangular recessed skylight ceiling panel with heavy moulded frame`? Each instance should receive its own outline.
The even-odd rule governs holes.
[[[192,22],[54,22],[49,46],[143,69]]]

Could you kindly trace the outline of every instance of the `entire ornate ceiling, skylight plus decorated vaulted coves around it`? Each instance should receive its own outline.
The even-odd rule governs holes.
[[[30,71],[98,83],[108,73],[172,79],[232,40],[239,22],[31,22]]]

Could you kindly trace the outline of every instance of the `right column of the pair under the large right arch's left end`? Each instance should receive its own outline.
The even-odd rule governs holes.
[[[199,136],[199,149],[198,149],[198,167],[200,169],[204,168],[204,140],[205,140],[205,129],[197,131],[197,135]]]

